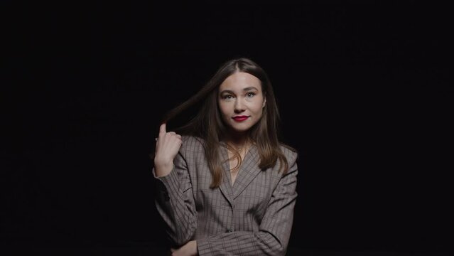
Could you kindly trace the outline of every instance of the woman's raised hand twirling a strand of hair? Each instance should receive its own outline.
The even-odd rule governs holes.
[[[166,123],[159,127],[159,137],[156,138],[156,154],[154,167],[156,176],[166,176],[173,169],[173,159],[181,146],[181,135],[175,132],[166,132]]]

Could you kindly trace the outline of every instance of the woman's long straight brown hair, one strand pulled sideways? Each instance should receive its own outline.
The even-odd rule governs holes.
[[[168,122],[173,117],[188,109],[188,107],[204,100],[195,117],[182,127],[176,128],[175,131],[179,134],[199,137],[204,141],[205,155],[213,177],[211,188],[220,186],[222,182],[222,162],[219,157],[219,149],[222,145],[220,142],[226,137],[228,129],[222,121],[217,105],[219,87],[229,75],[237,72],[249,73],[259,78],[261,90],[266,98],[266,105],[261,119],[249,130],[249,139],[252,140],[252,143],[257,146],[259,151],[259,168],[262,170],[271,168],[276,165],[279,159],[279,171],[283,171],[284,174],[288,171],[288,161],[279,146],[279,110],[268,75],[254,61],[248,58],[237,58],[221,65],[215,75],[208,80],[199,92],[168,112],[163,119],[163,122]],[[290,146],[283,146],[295,151]],[[239,154],[237,154],[236,158],[238,156]]]

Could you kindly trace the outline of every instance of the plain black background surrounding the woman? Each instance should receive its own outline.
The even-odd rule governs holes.
[[[3,1],[1,11],[2,247],[157,254],[158,122],[225,60],[247,57],[269,74],[283,142],[300,154],[289,254],[453,252],[446,6]]]

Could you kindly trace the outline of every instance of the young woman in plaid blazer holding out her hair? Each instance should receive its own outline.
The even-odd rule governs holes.
[[[166,122],[195,102],[176,132]],[[156,138],[156,206],[173,255],[285,255],[296,202],[297,154],[279,142],[279,112],[264,70],[229,60],[169,112]]]

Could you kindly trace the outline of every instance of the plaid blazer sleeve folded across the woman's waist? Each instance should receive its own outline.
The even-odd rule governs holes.
[[[199,255],[285,255],[296,203],[296,153],[271,195],[258,232],[234,231],[197,241]]]

